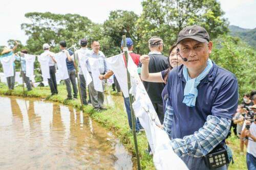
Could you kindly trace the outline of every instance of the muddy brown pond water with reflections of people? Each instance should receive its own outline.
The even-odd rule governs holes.
[[[0,169],[132,169],[131,155],[81,111],[0,96]]]

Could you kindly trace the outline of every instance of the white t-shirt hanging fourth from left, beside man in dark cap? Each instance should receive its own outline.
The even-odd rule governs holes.
[[[67,52],[68,53],[68,52]],[[67,54],[66,52],[62,51],[54,55],[54,59],[57,62],[58,70],[60,72],[60,80],[69,79],[69,72],[67,68]]]

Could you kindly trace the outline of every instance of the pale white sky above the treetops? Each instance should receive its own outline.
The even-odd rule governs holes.
[[[230,25],[241,28],[256,28],[256,0],[217,0],[225,12]],[[113,10],[134,11],[140,15],[142,0],[6,0],[1,2],[0,10],[0,45],[8,45],[7,40],[21,40],[26,43],[28,36],[20,25],[29,22],[25,17],[28,12],[51,12],[58,14],[77,13],[87,16],[93,22],[103,23]],[[66,5],[65,5],[66,4]]]

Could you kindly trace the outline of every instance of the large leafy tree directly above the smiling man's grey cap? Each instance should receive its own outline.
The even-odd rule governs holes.
[[[211,39],[228,32],[227,19],[222,18],[224,12],[216,0],[145,0],[142,6],[137,21],[141,48],[145,48],[143,42],[154,35],[163,38],[168,48],[180,30],[189,25],[204,27]]]

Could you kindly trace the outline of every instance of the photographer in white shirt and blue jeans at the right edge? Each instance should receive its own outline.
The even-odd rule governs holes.
[[[241,137],[248,139],[246,163],[249,170],[256,169],[256,105],[251,107],[250,117],[253,119],[246,119]],[[252,115],[253,113],[253,115]]]

